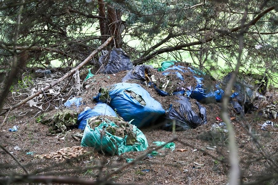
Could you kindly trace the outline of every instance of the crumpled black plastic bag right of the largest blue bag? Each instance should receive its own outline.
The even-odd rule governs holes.
[[[162,129],[171,131],[174,120],[176,130],[187,130],[207,124],[206,109],[198,101],[196,101],[196,104],[199,113],[195,113],[188,97],[179,96],[179,99],[177,102],[180,106],[178,108],[170,107],[166,114],[166,123],[162,126]]]

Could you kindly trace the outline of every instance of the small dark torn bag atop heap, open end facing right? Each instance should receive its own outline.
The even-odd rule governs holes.
[[[122,79],[122,82],[127,80],[140,80],[140,81],[150,81],[150,69],[154,69],[151,65],[138,65],[131,69]]]

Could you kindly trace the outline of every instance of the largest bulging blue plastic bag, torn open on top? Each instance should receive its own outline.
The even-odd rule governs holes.
[[[101,91],[104,92],[104,90]],[[125,121],[134,119],[132,124],[138,128],[150,125],[158,117],[165,114],[161,104],[154,100],[150,93],[138,84],[118,83],[111,86],[108,92],[109,97],[102,98],[103,93],[99,93],[95,100],[102,102],[110,100],[108,105],[116,110],[116,113],[124,118]],[[135,93],[135,97],[131,92]],[[142,104],[143,101],[139,102],[141,99],[145,102],[145,105]]]

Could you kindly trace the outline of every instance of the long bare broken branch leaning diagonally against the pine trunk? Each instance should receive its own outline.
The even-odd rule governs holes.
[[[104,47],[106,47],[113,39],[113,36],[109,37],[101,46],[99,46],[95,51],[93,51],[81,64],[79,64],[76,68],[73,68],[72,70],[70,70],[69,72],[67,72],[64,76],[62,76],[61,78],[59,78],[58,80],[56,80],[55,82],[53,82],[52,84],[42,88],[40,91],[37,91],[36,93],[34,93],[33,95],[25,98],[23,101],[9,107],[9,108],[3,108],[3,110],[13,110],[23,104],[25,104],[27,101],[32,100],[34,97],[40,95],[41,93],[43,93],[44,91],[52,88],[53,86],[59,84],[61,81],[65,80],[68,76],[73,75],[76,70],[81,69],[85,64],[87,64],[95,54],[97,54],[99,51],[101,51]],[[2,115],[2,113],[1,113]]]

